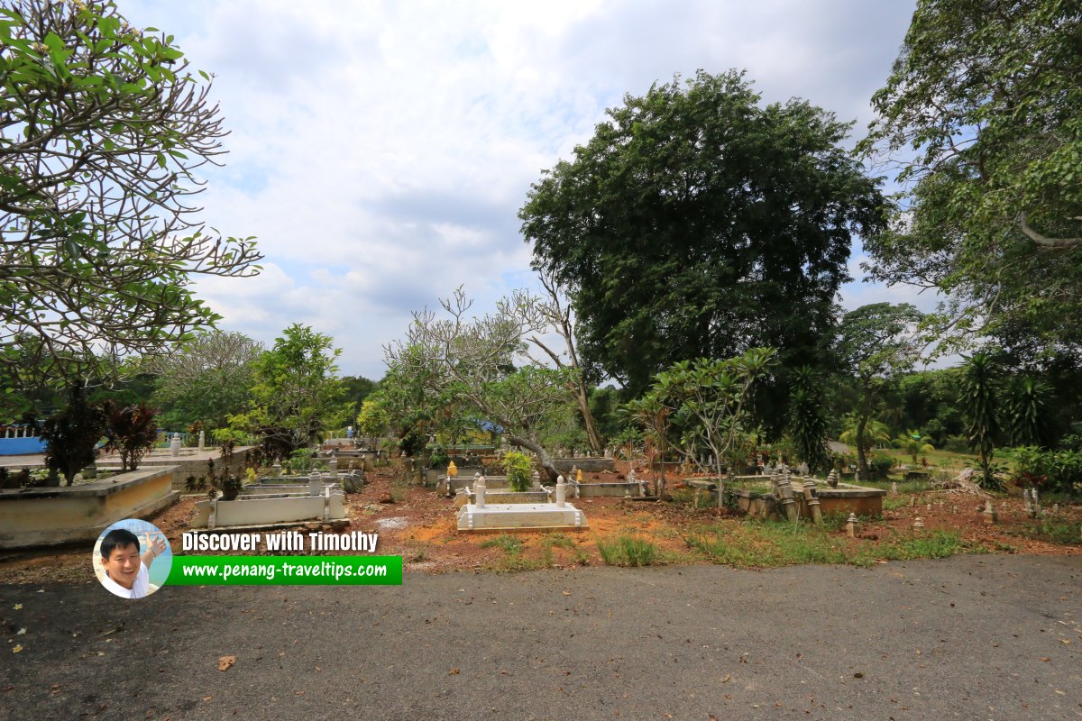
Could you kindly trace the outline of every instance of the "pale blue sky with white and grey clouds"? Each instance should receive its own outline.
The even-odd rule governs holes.
[[[204,277],[220,326],[267,345],[300,322],[344,375],[383,376],[411,311],[459,285],[490,310],[536,288],[518,210],[530,184],[626,93],[697,69],[747,70],[764,103],[873,114],[909,26],[902,0],[342,2],[118,0],[213,75],[230,132],[201,219],[258,239],[255,278]],[[848,309],[935,298],[862,283]]]

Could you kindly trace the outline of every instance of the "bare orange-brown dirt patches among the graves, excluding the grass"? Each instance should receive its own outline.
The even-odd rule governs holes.
[[[589,473],[584,481],[615,481],[629,469],[626,463],[620,463],[620,472]],[[643,477],[642,473],[639,477]],[[371,472],[368,478],[369,483],[361,493],[348,496],[349,528],[379,533],[378,552],[401,556],[407,573],[509,570],[507,555],[503,549],[491,545],[483,547],[492,535],[458,532],[454,506],[450,499],[437,496],[432,489],[406,483],[393,469]],[[682,481],[683,477],[678,473],[669,480],[670,490],[677,496],[683,488]],[[150,519],[166,533],[174,552],[180,552],[181,535],[188,530],[188,521],[195,516],[197,499],[195,496],[182,498]],[[837,543],[874,545],[894,535],[894,531],[907,532],[912,528],[913,519],[920,516],[927,531],[958,531],[971,550],[1082,555],[1082,538],[1071,545],[1058,545],[1027,537],[1024,531],[1035,522],[1026,516],[1019,497],[997,498],[999,523],[991,525],[980,515],[984,500],[975,496],[927,492],[887,496],[887,499],[893,499],[887,506],[901,505],[886,510],[882,519],[862,524],[858,538],[848,538],[844,530],[835,532]],[[690,503],[623,498],[580,498],[575,503],[585,513],[590,528],[565,532],[563,536],[567,540],[560,538],[558,545],[552,543],[551,533],[516,533],[515,537],[523,544],[517,558],[523,563],[514,568],[601,565],[603,560],[597,540],[620,535],[648,538],[662,550],[667,562],[704,563],[704,559],[689,552],[685,536],[716,523],[743,523],[742,517],[730,515],[725,509],[694,508]],[[1082,521],[1082,506],[1064,506],[1057,516],[1060,520],[1078,523]],[[312,528],[320,526],[313,524]],[[324,553],[320,551],[320,555]],[[81,546],[0,553],[0,583],[81,583],[91,579],[93,572],[89,552]]]

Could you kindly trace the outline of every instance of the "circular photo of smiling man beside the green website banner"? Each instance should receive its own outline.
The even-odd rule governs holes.
[[[158,526],[135,518],[117,521],[94,545],[94,574],[106,590],[141,599],[160,588],[173,566],[173,549]]]

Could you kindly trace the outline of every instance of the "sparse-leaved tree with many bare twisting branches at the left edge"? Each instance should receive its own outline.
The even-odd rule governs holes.
[[[253,275],[197,217],[226,131],[172,36],[111,2],[0,9],[0,365],[65,383],[216,316],[194,275]],[[37,343],[28,343],[36,338]],[[32,357],[27,358],[28,350]]]

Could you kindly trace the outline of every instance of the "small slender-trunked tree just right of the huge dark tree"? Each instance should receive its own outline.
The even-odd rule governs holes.
[[[920,358],[923,313],[908,303],[874,303],[842,317],[836,351],[853,375],[858,398],[853,410],[853,441],[861,478],[868,470],[868,426],[885,391]],[[889,440],[889,435],[887,435]]]

